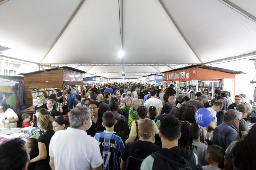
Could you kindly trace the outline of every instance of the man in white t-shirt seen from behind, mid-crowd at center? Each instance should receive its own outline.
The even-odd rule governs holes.
[[[163,103],[161,100],[156,99],[156,89],[151,89],[150,95],[151,95],[151,98],[146,100],[144,105],[146,106],[147,110],[149,109],[150,106],[155,106],[156,112],[158,113],[157,115],[161,115]]]

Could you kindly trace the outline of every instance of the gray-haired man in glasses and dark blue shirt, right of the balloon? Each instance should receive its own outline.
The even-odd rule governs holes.
[[[219,145],[224,151],[229,144],[235,140],[240,140],[237,134],[237,127],[241,122],[242,113],[229,109],[224,114],[224,121],[213,131],[212,144]]]

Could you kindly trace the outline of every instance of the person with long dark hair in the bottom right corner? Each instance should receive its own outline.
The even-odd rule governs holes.
[[[233,141],[225,152],[224,166],[226,170],[248,170],[256,169],[256,162],[253,161],[256,151],[256,125],[242,141]]]

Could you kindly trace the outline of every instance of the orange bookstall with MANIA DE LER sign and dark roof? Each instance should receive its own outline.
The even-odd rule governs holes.
[[[176,82],[177,94],[182,92],[190,99],[195,99],[195,93],[204,92],[207,88],[213,97],[214,90],[227,90],[235,94],[235,74],[242,74],[241,71],[227,70],[217,67],[194,65],[175,69],[170,72],[163,72],[163,81]]]

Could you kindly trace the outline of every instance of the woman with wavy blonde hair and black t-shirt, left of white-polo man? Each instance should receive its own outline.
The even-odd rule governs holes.
[[[49,101],[49,100],[48,100]],[[51,170],[49,144],[54,134],[52,126],[52,117],[50,115],[43,115],[37,119],[38,127],[44,131],[37,139],[39,155],[30,160],[30,163],[36,162],[35,170]]]

